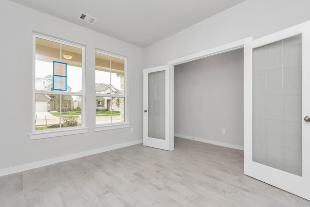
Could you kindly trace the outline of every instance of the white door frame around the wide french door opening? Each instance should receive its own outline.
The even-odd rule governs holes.
[[[248,75],[248,73],[251,72],[251,68],[252,68],[252,47],[250,45],[251,42],[252,42],[252,37],[247,37],[247,38],[244,38],[238,41],[234,41],[232,43],[228,43],[228,44],[225,44],[219,47],[203,50],[201,52],[197,52],[197,53],[187,55],[187,56],[167,62],[167,64],[170,65],[170,73],[171,73],[171,77],[170,77],[171,122],[170,124],[171,124],[171,146],[173,149],[174,149],[174,66],[243,48],[244,50],[243,52],[244,53],[244,80],[243,81],[244,81],[244,85],[246,85],[246,83],[248,84],[248,82],[246,82],[245,80],[246,74]],[[249,90],[249,89],[244,87],[244,93],[246,93],[246,90]],[[244,112],[246,112],[246,110],[249,110],[247,104],[249,104],[248,100],[244,99]],[[248,127],[248,125],[246,126],[246,123],[247,122],[244,118],[244,127],[245,127],[244,130],[246,129],[246,127]],[[244,141],[245,141],[245,133],[244,133]]]

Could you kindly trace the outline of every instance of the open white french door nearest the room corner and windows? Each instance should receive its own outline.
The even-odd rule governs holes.
[[[173,150],[170,65],[143,71],[143,145]]]

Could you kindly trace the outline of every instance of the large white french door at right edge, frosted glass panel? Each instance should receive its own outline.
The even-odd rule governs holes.
[[[252,41],[244,173],[310,200],[310,24]]]

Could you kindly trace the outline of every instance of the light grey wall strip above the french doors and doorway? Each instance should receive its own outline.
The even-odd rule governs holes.
[[[144,49],[144,67],[310,20],[310,0],[246,0]]]

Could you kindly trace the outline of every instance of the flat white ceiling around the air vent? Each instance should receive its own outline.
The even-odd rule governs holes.
[[[11,0],[145,48],[245,0]],[[98,20],[92,25],[81,13]]]

